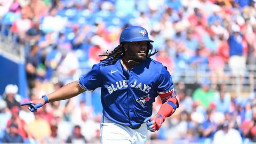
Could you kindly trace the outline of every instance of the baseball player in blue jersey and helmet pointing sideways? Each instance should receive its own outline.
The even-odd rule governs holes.
[[[179,107],[172,77],[166,67],[153,59],[153,43],[145,28],[127,27],[119,45],[92,69],[61,89],[41,99],[22,103],[37,111],[45,103],[69,99],[101,87],[103,116],[100,123],[101,143],[146,143],[147,129],[160,129],[166,117]],[[153,102],[161,98],[162,106],[152,116]]]

